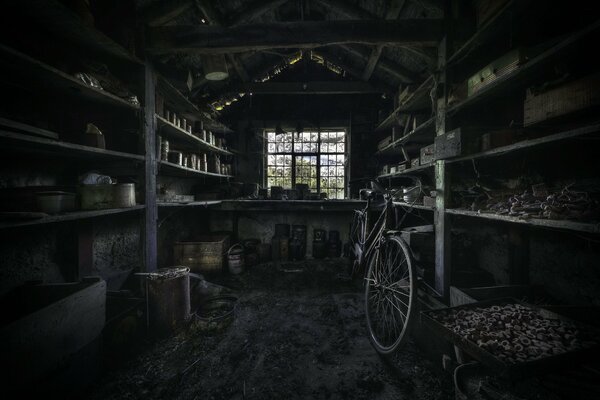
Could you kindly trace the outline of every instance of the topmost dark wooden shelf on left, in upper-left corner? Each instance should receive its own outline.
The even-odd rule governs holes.
[[[57,0],[22,0],[20,7],[27,15],[31,16],[32,23],[45,27],[69,42],[78,44],[85,50],[108,56],[112,60],[123,64],[143,68],[144,64],[123,46],[106,36],[84,21]]]

